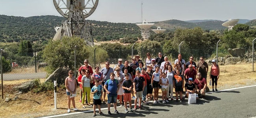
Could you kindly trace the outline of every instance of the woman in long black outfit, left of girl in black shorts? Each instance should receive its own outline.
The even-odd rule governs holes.
[[[147,80],[147,98],[146,98],[146,101],[148,101],[148,97],[150,98],[150,100],[153,100],[152,98],[152,92],[153,92],[153,87],[151,85],[151,79],[152,79],[152,74],[153,74],[153,71],[152,71],[152,65],[148,65],[147,66],[147,71],[146,71],[146,74],[148,74],[149,76],[149,80]]]

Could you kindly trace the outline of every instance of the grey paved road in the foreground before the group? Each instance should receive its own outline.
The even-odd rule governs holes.
[[[105,116],[95,118],[250,118],[256,116],[256,87],[213,92],[206,95],[206,99],[197,100],[197,104],[187,104],[187,99],[180,103],[171,101],[168,104],[149,104],[143,110],[124,113],[124,107],[118,107],[120,114],[109,116],[107,110],[102,110]],[[85,112],[59,116],[57,118],[91,118],[93,113]]]

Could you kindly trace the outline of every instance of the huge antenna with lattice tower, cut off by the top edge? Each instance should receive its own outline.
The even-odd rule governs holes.
[[[91,37],[91,24],[85,18],[89,17],[98,6],[98,0],[53,0],[56,10],[67,20],[54,35],[54,41],[63,36],[78,36],[87,44],[94,45]]]

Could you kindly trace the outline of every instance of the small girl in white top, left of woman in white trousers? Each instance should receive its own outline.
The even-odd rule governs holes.
[[[166,77],[166,74],[163,72],[162,73],[162,78],[161,78],[161,90],[162,90],[162,100],[163,103],[168,103],[169,101],[167,100],[167,87],[169,85],[168,78]]]

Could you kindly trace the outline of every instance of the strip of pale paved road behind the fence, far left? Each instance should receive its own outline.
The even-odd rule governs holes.
[[[27,73],[27,74],[3,74],[3,80],[19,79],[41,79],[46,77],[46,72]]]

